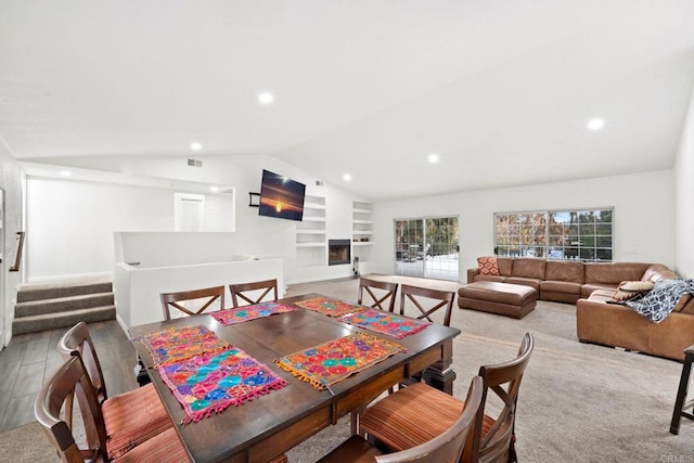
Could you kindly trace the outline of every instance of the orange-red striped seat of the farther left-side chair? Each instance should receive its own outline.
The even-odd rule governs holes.
[[[101,409],[112,459],[174,426],[153,384],[110,397]]]

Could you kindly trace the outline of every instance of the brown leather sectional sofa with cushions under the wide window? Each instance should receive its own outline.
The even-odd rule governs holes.
[[[467,270],[467,283],[496,281],[534,287],[539,299],[576,304],[576,331],[582,343],[622,347],[683,360],[694,345],[694,298],[680,299],[672,313],[654,323],[630,307],[609,304],[622,281],[652,281],[678,275],[660,263],[574,262],[532,258],[497,258],[499,275]]]

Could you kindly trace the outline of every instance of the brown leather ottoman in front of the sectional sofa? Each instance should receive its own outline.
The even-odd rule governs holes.
[[[461,309],[522,319],[538,300],[538,292],[530,286],[492,281],[476,281],[458,290],[458,306]]]

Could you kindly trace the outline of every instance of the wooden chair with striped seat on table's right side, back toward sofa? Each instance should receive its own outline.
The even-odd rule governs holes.
[[[515,359],[479,368],[481,406],[463,452],[463,462],[516,462],[515,417],[518,389],[532,353],[535,340],[526,333]],[[489,391],[501,399],[486,410]],[[425,383],[416,383],[378,400],[360,417],[364,433],[393,451],[416,447],[451,426],[465,403]]]

